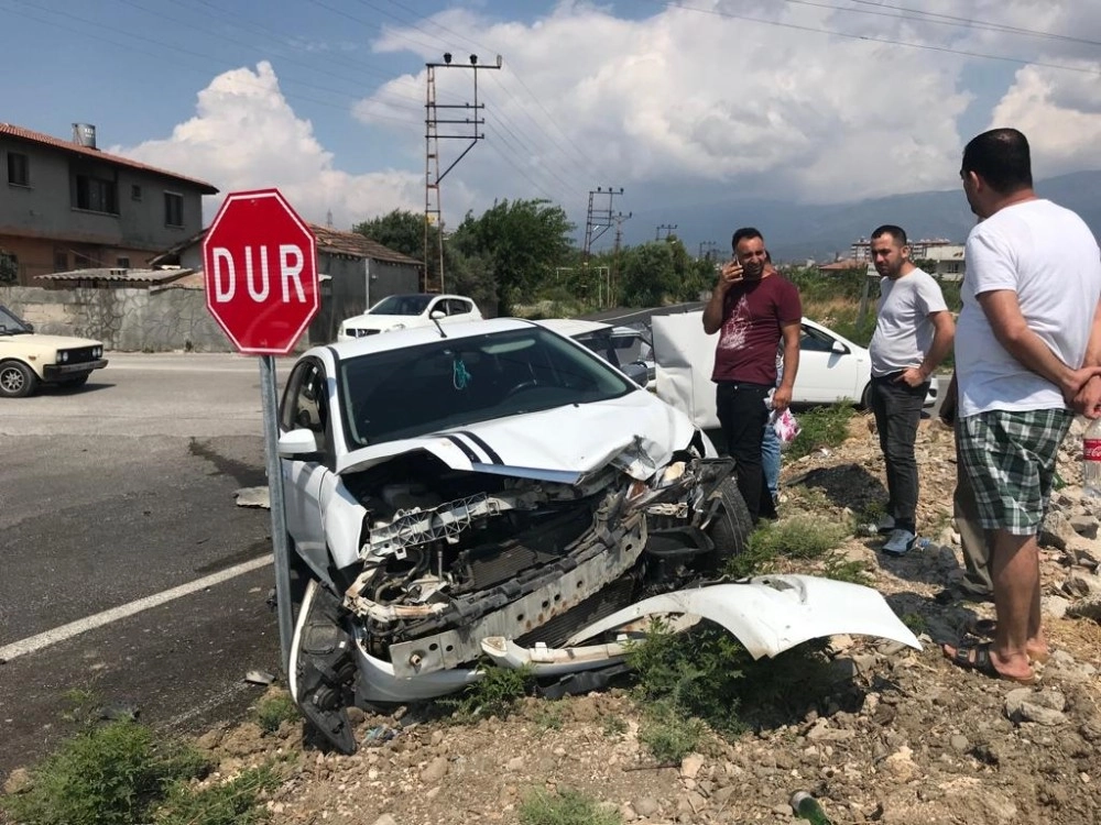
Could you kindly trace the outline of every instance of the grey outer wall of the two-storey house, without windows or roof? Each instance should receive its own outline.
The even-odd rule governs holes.
[[[29,186],[8,183],[8,154],[17,152],[29,158]],[[116,184],[118,215],[77,209],[77,175],[92,175]],[[157,251],[173,246],[195,234],[203,226],[203,197],[199,189],[181,180],[132,169],[96,158],[68,153],[51,146],[0,135],[0,235],[37,241],[26,261],[26,278],[63,271],[55,253],[68,255],[69,267],[115,266],[116,258],[129,256],[141,265]],[[134,191],[140,189],[140,194]],[[165,223],[165,193],[183,198],[183,226]],[[139,197],[135,197],[139,196]],[[6,240],[6,248],[10,242]],[[50,243],[51,245],[46,245]],[[120,250],[128,254],[117,254]],[[12,251],[9,249],[9,251]],[[43,272],[43,267],[46,267]]]

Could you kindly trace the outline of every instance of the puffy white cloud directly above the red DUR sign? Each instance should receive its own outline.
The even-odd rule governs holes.
[[[208,220],[225,194],[270,186],[306,220],[324,223],[331,210],[336,227],[424,204],[424,178],[415,172],[340,170],[310,122],[295,116],[266,62],[211,80],[199,92],[195,117],[172,136],[111,151],[217,186],[221,195],[206,205]]]

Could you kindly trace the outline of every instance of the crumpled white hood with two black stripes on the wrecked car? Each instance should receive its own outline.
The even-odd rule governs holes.
[[[624,471],[645,480],[665,466],[675,450],[688,447],[694,432],[682,413],[640,389],[607,402],[385,441],[340,457],[335,470],[359,472],[402,453],[427,450],[455,470],[571,483],[626,450]]]

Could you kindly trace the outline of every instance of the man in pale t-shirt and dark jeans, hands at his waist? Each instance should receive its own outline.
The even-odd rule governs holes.
[[[936,279],[909,260],[901,227],[872,232],[871,256],[880,279],[880,307],[869,351],[870,400],[886,463],[887,507],[880,524],[890,534],[883,552],[902,556],[917,534],[917,460],[914,441],[929,378],[952,345],[956,323]]]

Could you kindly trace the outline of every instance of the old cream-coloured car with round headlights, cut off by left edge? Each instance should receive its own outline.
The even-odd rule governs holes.
[[[103,344],[89,338],[41,336],[0,306],[0,397],[21,398],[40,384],[78,387],[107,366]]]

